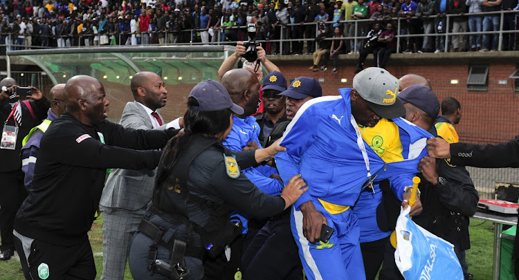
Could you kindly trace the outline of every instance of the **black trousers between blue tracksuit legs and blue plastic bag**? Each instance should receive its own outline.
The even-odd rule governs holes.
[[[362,259],[366,280],[375,280],[376,273],[384,260],[385,245],[389,241],[389,236],[376,241],[361,243]]]

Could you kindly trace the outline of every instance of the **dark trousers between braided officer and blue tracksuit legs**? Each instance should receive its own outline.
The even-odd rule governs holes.
[[[242,258],[244,279],[302,279],[302,265],[290,229],[289,213],[268,221],[256,234]]]

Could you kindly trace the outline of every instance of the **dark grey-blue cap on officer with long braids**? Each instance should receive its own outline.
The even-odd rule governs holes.
[[[191,90],[189,97],[194,97],[199,106],[191,106],[189,109],[193,111],[220,111],[230,109],[238,115],[243,115],[244,109],[233,103],[229,93],[224,85],[217,81],[208,79],[199,82]]]

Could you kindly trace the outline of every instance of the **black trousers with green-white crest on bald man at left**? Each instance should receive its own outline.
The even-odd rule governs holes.
[[[93,261],[90,242],[80,245],[60,246],[35,239],[24,248],[24,241],[17,237],[16,249],[19,252],[21,268],[26,279],[95,279],[95,263]],[[24,250],[25,249],[25,250]],[[26,256],[25,252],[30,252]]]

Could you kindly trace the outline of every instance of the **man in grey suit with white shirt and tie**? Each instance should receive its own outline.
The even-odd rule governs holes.
[[[163,124],[157,109],[166,104],[167,91],[162,78],[152,72],[140,72],[131,79],[134,102],[122,111],[120,124],[132,129],[180,128],[181,118]],[[155,181],[155,170],[113,169],[104,186],[102,212],[103,272],[101,279],[123,279],[131,236],[143,218]]]

